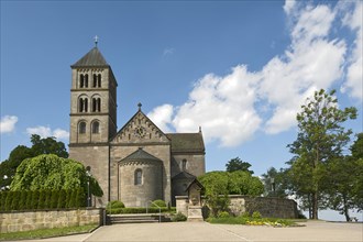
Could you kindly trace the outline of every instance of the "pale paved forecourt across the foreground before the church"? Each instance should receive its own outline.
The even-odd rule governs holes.
[[[209,224],[207,222],[129,223],[101,227],[91,234],[78,234],[38,241],[363,241],[363,223],[309,221],[305,224],[306,227],[297,228],[271,228]]]

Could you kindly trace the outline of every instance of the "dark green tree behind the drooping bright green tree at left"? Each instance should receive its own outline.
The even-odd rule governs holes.
[[[37,134],[31,136],[32,146],[18,145],[11,151],[9,158],[0,163],[0,189],[8,189],[13,180],[18,166],[25,160],[41,154],[55,154],[67,158],[68,153],[63,142],[55,138],[42,139]]]

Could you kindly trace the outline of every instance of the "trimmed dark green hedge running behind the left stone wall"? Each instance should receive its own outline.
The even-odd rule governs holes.
[[[82,189],[0,191],[0,211],[81,208],[87,206]]]

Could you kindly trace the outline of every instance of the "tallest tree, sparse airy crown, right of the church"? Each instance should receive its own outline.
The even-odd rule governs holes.
[[[356,118],[355,108],[339,109],[334,94],[334,90],[327,94],[321,89],[307,99],[297,114],[297,139],[288,145],[295,155],[289,163],[290,182],[296,195],[310,197],[312,219],[318,219],[318,209],[324,201],[326,165],[341,157],[343,147],[350,141],[352,131],[345,130],[342,123]],[[307,187],[305,183],[310,186]]]

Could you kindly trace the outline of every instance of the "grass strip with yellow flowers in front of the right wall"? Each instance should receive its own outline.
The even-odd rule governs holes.
[[[251,217],[227,217],[208,218],[207,222],[221,224],[245,224],[245,226],[271,226],[271,227],[297,227],[296,220],[277,218],[251,218]]]

